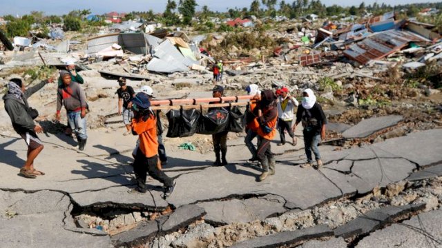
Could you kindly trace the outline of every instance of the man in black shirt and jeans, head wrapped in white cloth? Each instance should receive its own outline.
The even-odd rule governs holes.
[[[313,163],[311,152],[313,152],[316,158],[316,166],[319,168],[323,165],[323,161],[320,160],[318,144],[321,139],[323,140],[325,138],[325,124],[327,124],[327,118],[325,118],[323,108],[320,107],[319,103],[316,103],[316,96],[314,95],[313,90],[304,90],[302,96],[302,104],[298,106],[296,123],[293,127],[293,132],[295,132],[296,125],[300,122],[302,122],[302,127],[304,127],[303,134],[307,163],[301,165],[301,167],[311,167]]]

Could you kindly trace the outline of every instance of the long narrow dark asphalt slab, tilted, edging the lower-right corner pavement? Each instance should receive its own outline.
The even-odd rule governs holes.
[[[390,224],[390,221],[425,208],[425,204],[405,205],[405,206],[387,206],[381,209],[374,209],[350,220],[347,224],[334,229],[336,237],[350,238],[352,236],[367,234],[375,229]]]

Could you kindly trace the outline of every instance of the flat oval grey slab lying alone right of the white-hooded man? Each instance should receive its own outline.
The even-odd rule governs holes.
[[[343,132],[343,137],[364,138],[387,127],[392,127],[402,120],[403,117],[397,115],[369,118]]]

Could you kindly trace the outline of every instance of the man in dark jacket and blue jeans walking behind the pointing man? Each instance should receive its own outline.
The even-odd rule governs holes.
[[[60,121],[61,106],[68,114],[70,129],[78,140],[78,149],[84,150],[88,136],[86,134],[86,94],[78,83],[72,82],[69,72],[60,72],[63,86],[57,90],[57,121]]]

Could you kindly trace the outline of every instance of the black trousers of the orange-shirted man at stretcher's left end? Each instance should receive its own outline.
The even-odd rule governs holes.
[[[133,172],[135,172],[135,177],[137,178],[137,188],[141,192],[146,191],[147,172],[153,179],[163,183],[164,186],[171,187],[173,185],[173,179],[157,168],[157,161],[157,155],[146,158],[143,152],[138,149],[137,156],[135,156],[135,161],[133,162]]]

